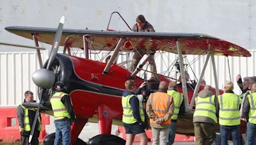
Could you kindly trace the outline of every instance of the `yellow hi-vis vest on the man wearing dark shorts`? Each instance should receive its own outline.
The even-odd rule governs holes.
[[[132,115],[132,107],[130,104],[131,97],[135,97],[135,95],[127,95],[126,97],[122,97],[122,106],[123,106],[123,119],[122,121],[127,124],[135,123],[137,120]],[[141,121],[145,121],[145,116],[143,112],[142,102],[140,102],[140,118]]]

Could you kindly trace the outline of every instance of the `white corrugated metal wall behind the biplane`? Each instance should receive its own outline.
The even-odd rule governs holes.
[[[244,76],[255,75],[255,55],[256,50],[252,50],[252,57],[229,57],[230,75],[232,81],[236,81],[236,75]],[[100,58],[106,53],[100,54]],[[78,52],[77,56],[83,57],[83,52]],[[155,56],[157,71],[166,71],[168,66],[177,58],[173,53],[163,53]],[[188,62],[196,59],[196,55],[187,55]],[[99,57],[92,55],[92,59],[99,60]],[[42,52],[43,62],[48,59],[48,52]],[[125,56],[121,55],[118,62],[124,61]],[[229,80],[227,57],[216,56],[216,69],[218,75],[219,87],[223,88],[225,80]],[[199,78],[202,67],[204,66],[205,56],[191,65],[195,76]],[[0,106],[17,106],[24,99],[24,92],[31,90],[35,94],[37,100],[37,88],[34,85],[31,75],[39,68],[36,52],[1,52],[0,53]],[[188,69],[191,79],[194,79],[191,69]],[[208,85],[215,86],[212,73],[212,64],[209,65],[205,71],[204,79]],[[235,92],[241,93],[235,83]]]

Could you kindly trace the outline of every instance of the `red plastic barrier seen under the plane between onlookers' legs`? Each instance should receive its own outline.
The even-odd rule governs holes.
[[[118,127],[118,132],[122,133],[122,138],[126,140],[125,137],[125,128],[124,127]],[[153,141],[153,137],[152,137],[152,130],[145,130],[147,136],[148,136],[148,141]],[[134,141],[135,142],[139,142],[140,139],[139,137],[137,137],[135,135],[134,137]],[[181,134],[176,134],[175,135],[175,142],[194,142],[195,141],[195,137],[193,136],[187,136],[187,135],[181,135]]]

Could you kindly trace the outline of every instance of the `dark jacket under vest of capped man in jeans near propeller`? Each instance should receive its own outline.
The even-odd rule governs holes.
[[[61,92],[61,91],[56,90],[56,92]],[[73,106],[72,106],[72,103],[71,103],[70,96],[69,95],[64,95],[61,98],[61,102],[65,105],[68,113],[70,114],[71,120],[74,121],[75,118],[76,118],[76,115],[75,115],[75,112],[74,112],[74,109],[73,109]],[[61,119],[61,120],[55,120],[55,121],[65,121],[65,120],[67,120],[67,118],[64,118],[64,119]]]

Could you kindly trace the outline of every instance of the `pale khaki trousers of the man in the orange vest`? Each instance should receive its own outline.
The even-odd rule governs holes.
[[[167,128],[152,128],[153,145],[166,145],[170,127]]]

